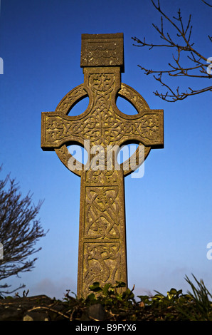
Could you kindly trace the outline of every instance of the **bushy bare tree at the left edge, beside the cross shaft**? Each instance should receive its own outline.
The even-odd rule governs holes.
[[[36,220],[43,202],[39,201],[35,206],[32,195],[21,197],[18,190],[18,184],[9,175],[5,180],[0,180],[0,242],[4,247],[4,257],[0,259],[0,280],[31,271],[37,258],[30,257],[41,250],[36,249],[35,244],[46,236],[40,220]],[[14,292],[5,291],[9,287],[8,284],[0,284],[0,297]]]

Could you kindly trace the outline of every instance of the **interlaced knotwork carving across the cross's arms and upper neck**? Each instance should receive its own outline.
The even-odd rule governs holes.
[[[103,79],[103,78],[104,79]],[[115,113],[111,105],[111,92],[114,90],[114,75],[92,75],[90,87],[94,95],[94,106],[89,115],[81,120],[73,122],[72,119],[61,118],[60,115],[49,116],[46,118],[46,141],[48,143],[60,143],[60,140],[71,140],[73,136],[78,136],[81,141],[89,139],[91,145],[114,145],[122,138],[137,140],[142,138],[145,144],[157,141],[159,134],[159,115],[157,113],[142,113],[142,117],[137,120],[132,118],[123,119]],[[122,86],[124,86],[122,84]],[[124,87],[122,93],[126,92]],[[129,91],[128,91],[129,92]],[[73,92],[76,94],[76,92]],[[69,100],[71,95],[69,94]],[[128,94],[129,96],[129,94]],[[74,96],[74,102],[78,101]],[[82,90],[80,90],[82,98]],[[134,97],[133,97],[134,98]],[[66,101],[66,99],[65,99]],[[139,101],[139,103],[138,103]],[[141,99],[137,99],[134,105],[139,105]],[[65,102],[65,110],[70,110],[70,106]],[[60,111],[62,106],[60,105]],[[146,108],[147,109],[147,108]]]

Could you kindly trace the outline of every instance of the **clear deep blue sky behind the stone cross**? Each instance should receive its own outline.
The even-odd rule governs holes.
[[[161,7],[169,16],[181,8],[185,21],[191,13],[195,46],[212,56],[208,6],[161,0]],[[55,110],[83,83],[82,33],[123,32],[122,82],[150,108],[164,109],[164,149],[151,151],[144,177],[125,178],[129,288],[135,284],[135,294],[171,287],[186,292],[184,277],[193,273],[211,289],[212,260],[206,257],[212,242],[211,93],[176,103],[154,96],[164,88],[137,65],[167,68],[171,51],[137,48],[132,41],[132,36],[159,41],[152,23],[159,25],[160,15],[151,1],[1,0],[0,19],[1,178],[10,172],[23,195],[31,190],[35,203],[45,200],[38,217],[49,230],[36,244],[42,250],[35,269],[8,284],[24,283],[29,295],[59,299],[66,289],[77,292],[80,178],[54,152],[41,150],[41,112]],[[188,78],[169,83],[182,90],[211,84]]]

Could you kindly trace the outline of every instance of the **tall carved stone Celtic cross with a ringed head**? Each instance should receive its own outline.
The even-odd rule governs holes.
[[[123,33],[83,34],[80,66],[84,83],[67,93],[54,112],[41,113],[41,148],[55,150],[81,177],[78,297],[87,297],[94,282],[127,284],[124,177],[144,162],[151,148],[163,148],[164,125],[163,110],[151,110],[137,91],[121,83]],[[87,96],[88,108],[71,116],[71,108]],[[122,113],[117,96],[132,103],[137,113]],[[113,149],[125,143],[139,145],[133,160],[118,164]],[[70,144],[86,148],[86,165],[70,154]],[[129,166],[130,160],[134,165]]]

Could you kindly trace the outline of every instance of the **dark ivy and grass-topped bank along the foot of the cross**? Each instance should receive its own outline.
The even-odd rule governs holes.
[[[194,276],[193,276],[194,277]],[[212,295],[202,280],[196,285],[186,277],[191,292],[170,289],[167,295],[137,296],[123,282],[115,285],[95,282],[86,299],[71,297],[63,301],[38,297],[0,299],[0,321],[212,321]]]

